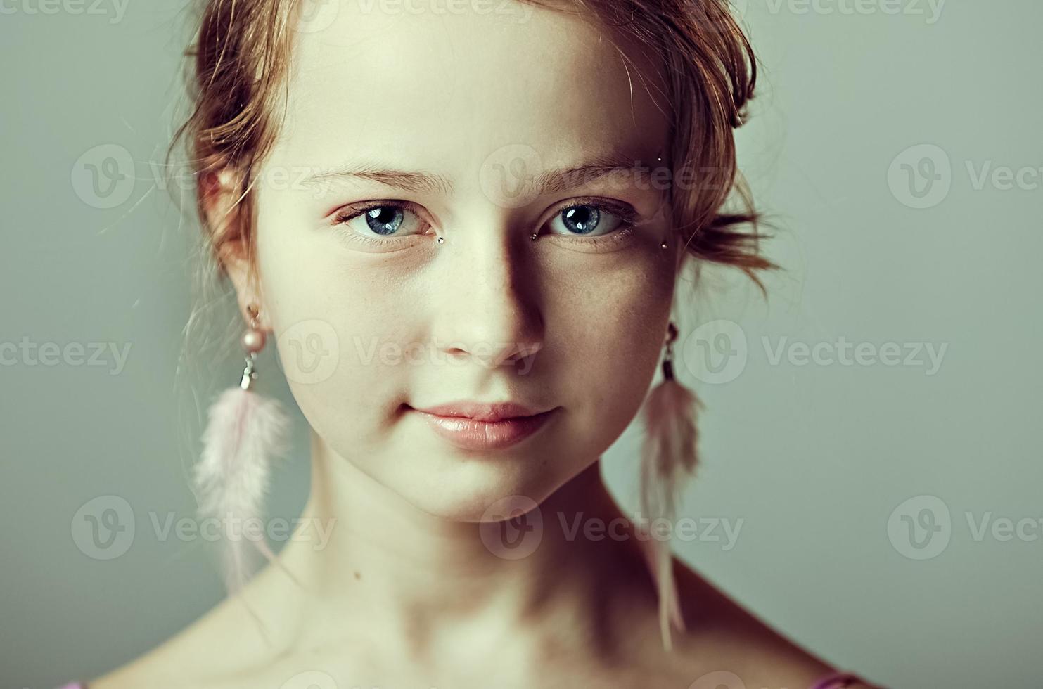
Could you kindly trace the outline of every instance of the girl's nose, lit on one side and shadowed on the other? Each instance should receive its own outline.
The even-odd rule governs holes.
[[[486,368],[515,365],[543,346],[539,280],[531,251],[507,231],[458,228],[439,249],[433,325],[436,342],[454,358]]]

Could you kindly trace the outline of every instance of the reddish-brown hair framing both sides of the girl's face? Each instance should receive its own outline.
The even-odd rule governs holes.
[[[305,0],[308,1],[308,0]],[[543,0],[523,0],[545,6]],[[777,266],[759,253],[758,215],[738,176],[732,129],[753,96],[756,63],[727,0],[574,0],[607,26],[658,53],[668,75],[673,170],[698,172],[694,190],[672,188],[674,231],[686,256],[732,266],[765,292],[756,271]],[[175,133],[196,180],[197,212],[207,246],[217,251],[241,241],[254,250],[254,171],[277,133],[274,109],[286,87],[293,24],[301,0],[204,0],[198,32],[187,55],[192,113]],[[208,197],[218,175],[237,201],[215,225]],[[675,177],[676,178],[676,177]],[[729,199],[738,202],[725,211]],[[748,231],[739,227],[749,225]],[[219,262],[220,265],[220,262]]]

